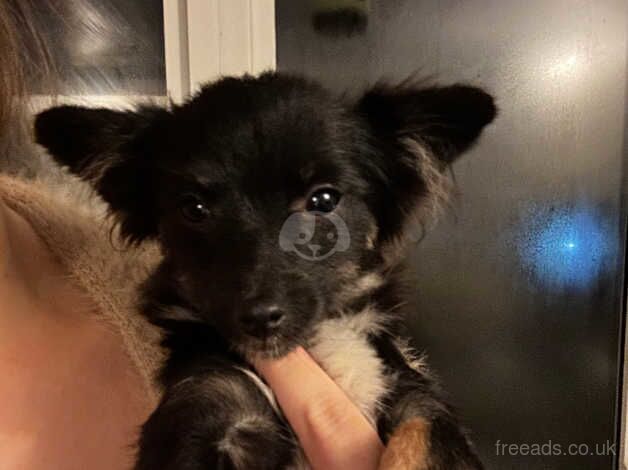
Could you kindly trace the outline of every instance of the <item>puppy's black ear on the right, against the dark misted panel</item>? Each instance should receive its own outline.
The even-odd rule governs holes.
[[[488,93],[453,85],[419,88],[377,85],[357,103],[377,150],[388,204],[382,238],[399,239],[411,215],[446,198],[444,170],[480,136],[497,109]]]

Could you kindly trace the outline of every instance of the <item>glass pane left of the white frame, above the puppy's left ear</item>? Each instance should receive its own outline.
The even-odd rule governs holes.
[[[33,3],[58,72],[52,85],[33,81],[33,94],[166,94],[161,0]]]

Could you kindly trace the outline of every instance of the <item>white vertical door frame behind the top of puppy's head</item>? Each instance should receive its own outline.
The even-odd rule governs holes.
[[[225,75],[274,70],[274,0],[163,0],[166,86],[181,102]]]

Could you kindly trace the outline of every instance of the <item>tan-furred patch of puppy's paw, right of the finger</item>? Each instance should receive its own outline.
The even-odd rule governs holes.
[[[430,424],[413,418],[399,426],[384,450],[379,470],[429,470]]]

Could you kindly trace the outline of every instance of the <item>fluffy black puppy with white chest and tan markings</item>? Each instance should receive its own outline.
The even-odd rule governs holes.
[[[93,184],[129,242],[163,248],[143,311],[170,359],[137,469],[306,467],[247,365],[298,344],[377,426],[390,467],[482,468],[400,340],[395,272],[412,219],[495,114],[467,86],[349,102],[276,73],[221,79],[169,110],[41,113],[37,141]]]

